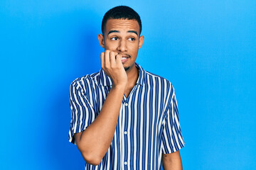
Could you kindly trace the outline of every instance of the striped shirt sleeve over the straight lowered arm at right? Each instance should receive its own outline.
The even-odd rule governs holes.
[[[176,152],[184,147],[185,143],[181,135],[181,127],[178,119],[178,105],[174,90],[171,103],[166,111],[166,117],[164,118],[163,125],[164,130],[161,137],[163,154]]]

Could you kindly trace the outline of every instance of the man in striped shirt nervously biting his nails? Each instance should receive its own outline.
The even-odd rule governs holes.
[[[107,11],[98,35],[102,69],[70,85],[69,140],[85,169],[182,169],[174,87],[135,63],[141,32],[132,8]]]

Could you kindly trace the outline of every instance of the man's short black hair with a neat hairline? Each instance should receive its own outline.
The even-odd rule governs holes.
[[[139,17],[139,14],[134,11],[129,6],[116,6],[111,8],[102,19],[102,35],[104,36],[104,31],[106,28],[107,20],[109,19],[128,19],[136,20],[139,23],[139,35],[142,33],[142,21]]]

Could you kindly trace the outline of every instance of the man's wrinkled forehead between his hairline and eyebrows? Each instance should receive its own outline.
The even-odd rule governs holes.
[[[139,33],[139,23],[136,20],[109,19],[106,23],[106,33],[110,30],[136,30]]]

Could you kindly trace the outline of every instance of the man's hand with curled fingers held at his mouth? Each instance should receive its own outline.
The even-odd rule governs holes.
[[[122,55],[117,52],[105,50],[100,55],[101,66],[104,72],[113,81],[113,86],[126,86],[127,74],[121,61]]]

